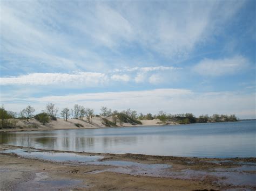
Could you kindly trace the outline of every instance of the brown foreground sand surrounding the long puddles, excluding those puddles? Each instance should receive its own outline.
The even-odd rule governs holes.
[[[0,145],[1,150],[19,148]],[[57,151],[55,151],[57,153]],[[79,153],[91,155],[92,153]],[[160,157],[140,154],[100,154],[104,160],[122,160],[142,164],[169,164],[173,172],[190,169],[210,171],[213,168],[227,169],[241,166],[235,162],[256,162],[255,158],[232,159],[221,164],[220,159]],[[211,163],[211,161],[216,161]],[[16,154],[0,153],[0,190],[202,190],[202,189],[248,189],[253,186],[221,184],[211,175],[163,178],[146,174],[131,175],[104,172],[110,166],[70,164],[18,157]],[[255,173],[255,172],[252,172]]]

